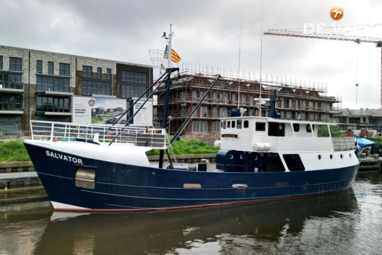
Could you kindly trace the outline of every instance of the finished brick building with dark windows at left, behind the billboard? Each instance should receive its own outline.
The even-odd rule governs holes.
[[[0,133],[28,133],[30,120],[72,121],[74,95],[139,97],[148,65],[0,46]]]

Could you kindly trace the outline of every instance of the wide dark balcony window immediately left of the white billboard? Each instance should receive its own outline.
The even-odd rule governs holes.
[[[37,97],[38,112],[69,113],[69,98]]]

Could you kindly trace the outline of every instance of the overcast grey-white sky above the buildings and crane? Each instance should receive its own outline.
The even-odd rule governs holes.
[[[161,36],[169,33],[171,23],[181,71],[193,67],[237,74],[240,69],[252,78],[261,72],[267,79],[324,86],[326,95],[342,99],[342,108],[381,106],[381,48],[375,44],[285,38],[262,31],[335,26],[345,35],[382,38],[382,26],[365,28],[382,24],[382,0],[0,3],[7,13],[0,15],[0,45],[152,65],[149,49],[165,49]],[[344,10],[340,21],[329,17],[333,6]]]

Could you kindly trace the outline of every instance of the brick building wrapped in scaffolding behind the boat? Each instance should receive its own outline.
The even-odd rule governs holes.
[[[169,133],[174,134],[188,115],[196,107],[201,97],[215,81],[216,75],[201,72],[182,72],[172,78],[169,88]],[[260,95],[261,88],[261,95]],[[281,118],[291,120],[332,121],[340,113],[341,99],[327,97],[326,88],[283,83],[278,81],[260,82],[256,79],[242,79],[232,76],[222,76],[203,103],[192,115],[184,133],[220,131],[219,118],[227,117],[230,111],[245,108],[245,115],[259,116],[259,98],[270,99],[272,91],[277,91],[280,100],[276,103]],[[157,104],[154,106],[153,121],[156,126],[163,122],[163,105],[165,101],[165,86],[158,89]],[[267,108],[261,108],[261,116],[267,115]]]

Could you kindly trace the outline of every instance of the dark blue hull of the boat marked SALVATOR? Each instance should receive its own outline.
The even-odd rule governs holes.
[[[81,207],[59,208],[69,211],[174,210],[295,199],[347,189],[358,170],[353,165],[302,172],[193,172],[82,158],[83,166],[95,169],[94,189],[88,189],[75,184],[78,164],[48,156],[44,147],[25,146],[49,199]],[[185,184],[201,188],[183,188]],[[247,188],[233,188],[234,184]]]

